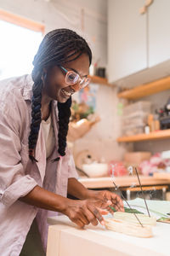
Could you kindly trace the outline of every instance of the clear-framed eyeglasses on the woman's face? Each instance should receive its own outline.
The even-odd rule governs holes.
[[[81,78],[80,75],[72,70],[67,70],[65,67],[59,66],[64,72],[65,72],[65,83],[66,84],[77,84],[79,83],[79,86],[81,88],[84,88],[88,86],[90,83],[90,79],[88,78]]]

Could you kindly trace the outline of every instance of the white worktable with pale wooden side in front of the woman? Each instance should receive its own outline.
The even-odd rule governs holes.
[[[78,229],[66,216],[48,218],[47,256],[169,256],[169,224],[157,223],[153,237],[105,230],[100,224]]]

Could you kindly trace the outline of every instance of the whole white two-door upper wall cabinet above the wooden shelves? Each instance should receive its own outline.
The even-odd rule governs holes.
[[[108,2],[110,83],[120,84],[128,78],[133,83],[134,73],[140,74],[142,70],[151,73],[150,67],[170,60],[170,0],[154,0],[141,15],[139,9],[145,3],[144,0]],[[143,83],[142,79],[139,83]]]

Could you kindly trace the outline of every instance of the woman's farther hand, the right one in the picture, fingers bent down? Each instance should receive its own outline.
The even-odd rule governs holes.
[[[110,207],[107,207],[107,210],[111,213],[114,213],[111,207],[114,207],[116,211],[124,212],[121,197],[119,195],[116,195],[116,193],[112,193],[109,190],[88,190],[87,197],[91,199],[94,198],[99,200],[111,201]]]

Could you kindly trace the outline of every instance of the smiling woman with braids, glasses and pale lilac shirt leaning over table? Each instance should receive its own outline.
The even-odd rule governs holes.
[[[88,44],[76,32],[54,30],[42,40],[31,75],[0,84],[3,256],[18,256],[22,248],[20,255],[26,255],[26,243],[33,246],[37,226],[45,250],[47,218],[56,215],[54,212],[83,227],[98,221],[104,224],[100,209],[109,204],[123,211],[116,194],[88,190],[77,181],[74,161],[66,148],[71,95],[89,84],[91,59]],[[66,198],[67,193],[80,200]]]

